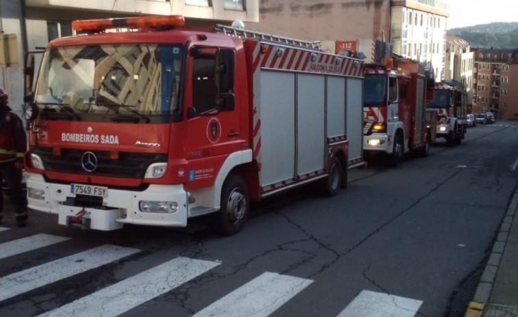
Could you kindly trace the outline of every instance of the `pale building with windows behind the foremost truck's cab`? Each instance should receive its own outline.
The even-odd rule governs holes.
[[[259,22],[259,0],[0,0],[0,31],[16,34],[18,64],[1,77],[14,110],[23,103],[23,55],[50,40],[74,34],[72,21],[149,14],[181,14],[185,24],[207,27],[215,23]]]

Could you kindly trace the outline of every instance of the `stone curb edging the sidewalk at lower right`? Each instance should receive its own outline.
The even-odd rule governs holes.
[[[513,198],[507,207],[506,215],[502,224],[500,225],[500,231],[498,232],[497,240],[493,244],[493,250],[482,272],[482,277],[478,282],[478,287],[473,297],[473,300],[469,303],[466,309],[465,317],[480,317],[484,313],[484,307],[488,304],[489,296],[493,290],[493,283],[495,283],[498,266],[500,265],[500,259],[506,247],[507,238],[509,236],[510,227],[513,224],[515,214],[518,207],[518,189],[515,189]]]

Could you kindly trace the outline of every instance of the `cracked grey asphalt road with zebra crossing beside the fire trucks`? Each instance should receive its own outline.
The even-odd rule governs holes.
[[[255,204],[229,238],[8,216],[0,316],[463,316],[517,185],[518,123],[495,125],[350,170],[331,199],[308,187]]]

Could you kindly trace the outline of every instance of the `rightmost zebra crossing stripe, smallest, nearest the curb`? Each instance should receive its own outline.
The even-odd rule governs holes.
[[[422,301],[363,290],[338,317],[413,317]]]

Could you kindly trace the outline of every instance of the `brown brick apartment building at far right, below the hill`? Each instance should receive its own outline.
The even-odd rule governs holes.
[[[495,118],[518,120],[518,49],[471,51],[474,112],[493,112]]]

